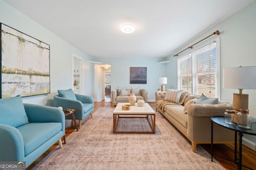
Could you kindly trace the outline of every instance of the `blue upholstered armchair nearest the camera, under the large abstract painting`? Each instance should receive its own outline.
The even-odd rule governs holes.
[[[65,135],[61,109],[23,104],[20,96],[0,99],[0,161],[26,162],[26,168]]]

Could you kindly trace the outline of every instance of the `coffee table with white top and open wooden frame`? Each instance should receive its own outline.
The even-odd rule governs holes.
[[[129,103],[118,103],[113,112],[113,133],[156,133],[156,112],[145,103],[144,107],[131,106],[130,110],[122,110],[122,105]],[[148,117],[151,117],[151,122]],[[116,131],[119,118],[146,118],[152,131]]]

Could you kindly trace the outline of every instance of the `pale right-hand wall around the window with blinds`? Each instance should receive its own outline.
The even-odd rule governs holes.
[[[173,57],[176,53],[186,49],[190,45],[210,35],[216,30],[220,31],[220,35],[214,35],[209,39],[220,37],[220,68],[221,68],[221,100],[232,103],[232,94],[238,93],[236,89],[223,88],[222,74],[223,68],[238,67],[238,66],[256,66],[256,2],[252,2],[236,14],[222,21],[220,24],[212,27],[202,35],[196,37],[190,43],[181,47],[175,53],[170,55],[168,59],[174,61],[176,57]],[[209,40],[207,39],[207,40]],[[203,43],[203,42],[202,42]],[[202,44],[201,43],[201,44]],[[198,44],[200,45],[200,44]],[[194,46],[196,48],[196,46]],[[190,50],[186,50],[180,55],[188,53]],[[170,75],[169,73],[176,70],[176,61],[167,64],[168,78],[176,79],[176,74]],[[256,74],[256,73],[255,73]],[[239,81],[239,80],[238,80]],[[256,80],[255,80],[256,82]],[[172,84],[175,86],[175,84]],[[256,90],[243,90],[244,94],[249,94],[249,113],[256,119],[256,104],[255,96]],[[244,135],[246,139],[256,143],[256,137],[250,135]]]

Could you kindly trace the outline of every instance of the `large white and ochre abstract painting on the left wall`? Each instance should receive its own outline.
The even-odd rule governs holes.
[[[0,98],[50,93],[50,45],[0,23]]]

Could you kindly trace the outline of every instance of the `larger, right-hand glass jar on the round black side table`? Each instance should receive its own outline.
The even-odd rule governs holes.
[[[252,116],[248,109],[240,109],[237,113],[237,125],[244,129],[252,129]]]

